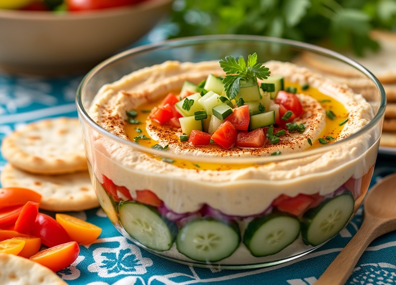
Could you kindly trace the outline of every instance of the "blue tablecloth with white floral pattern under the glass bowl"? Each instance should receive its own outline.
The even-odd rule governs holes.
[[[144,41],[147,39],[140,43]],[[50,79],[0,73],[0,142],[18,126],[32,121],[76,117],[75,93],[82,78],[83,74]],[[371,185],[396,171],[395,158],[390,154],[379,155]],[[0,171],[5,163],[0,155]],[[362,221],[360,208],[336,238],[288,263],[254,270],[213,270],[180,265],[148,253],[123,238],[99,208],[74,214],[103,231],[93,244],[81,245],[77,260],[57,273],[70,285],[311,285],[356,233]],[[396,232],[370,244],[347,284],[396,284]]]

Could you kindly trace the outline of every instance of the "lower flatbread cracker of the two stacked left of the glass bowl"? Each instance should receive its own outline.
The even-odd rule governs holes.
[[[82,211],[99,206],[88,171],[62,175],[28,173],[7,163],[0,174],[2,187],[32,189],[42,195],[40,208],[48,211]]]

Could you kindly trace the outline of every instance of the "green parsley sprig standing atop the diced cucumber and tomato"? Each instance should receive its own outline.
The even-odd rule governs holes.
[[[257,54],[249,54],[247,64],[241,55],[237,60],[231,55],[220,60],[220,66],[225,71],[226,77],[222,80],[224,89],[230,100],[234,99],[241,90],[241,81],[257,83],[258,79],[267,79],[270,75],[269,68],[257,63]]]

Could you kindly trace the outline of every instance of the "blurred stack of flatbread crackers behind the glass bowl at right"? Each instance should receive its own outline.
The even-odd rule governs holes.
[[[396,147],[396,33],[377,30],[371,33],[371,37],[379,43],[380,51],[368,53],[364,57],[358,57],[351,52],[344,54],[366,67],[383,85],[387,106],[380,146]],[[331,59],[307,52],[301,54],[296,59],[296,63],[328,74],[332,79],[347,84],[368,100],[376,93],[375,86],[367,78],[363,78],[351,67],[340,68]]]

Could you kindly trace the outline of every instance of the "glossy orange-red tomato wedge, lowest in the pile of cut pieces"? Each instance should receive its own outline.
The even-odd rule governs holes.
[[[72,264],[77,259],[79,253],[80,247],[78,243],[76,241],[70,241],[41,250],[31,256],[30,260],[36,261],[56,272]]]

